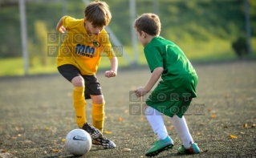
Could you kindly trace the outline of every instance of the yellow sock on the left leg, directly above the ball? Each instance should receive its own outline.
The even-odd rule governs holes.
[[[83,127],[83,124],[87,122],[85,116],[85,105],[84,99],[84,87],[75,87],[73,90],[73,101],[75,107],[75,121],[79,128]]]

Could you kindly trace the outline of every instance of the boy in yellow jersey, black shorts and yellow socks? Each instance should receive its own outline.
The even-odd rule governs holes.
[[[73,102],[75,120],[79,128],[87,131],[92,144],[104,148],[116,148],[111,140],[103,136],[104,128],[104,95],[96,72],[101,56],[108,56],[111,70],[105,72],[106,77],[115,77],[118,60],[112,51],[109,36],[104,26],[108,26],[112,18],[106,2],[91,2],[84,10],[85,18],[75,19],[70,16],[60,18],[56,29],[67,34],[59,47],[57,67],[59,73],[73,86]],[[92,100],[92,125],[86,119],[86,99]]]

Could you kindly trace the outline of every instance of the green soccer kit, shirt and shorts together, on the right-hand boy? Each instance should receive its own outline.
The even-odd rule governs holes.
[[[146,103],[165,115],[184,115],[192,98],[197,97],[197,73],[181,48],[156,36],[144,47],[150,71],[163,67],[161,81],[149,95]],[[185,107],[184,107],[185,106]],[[178,110],[179,109],[179,110]]]

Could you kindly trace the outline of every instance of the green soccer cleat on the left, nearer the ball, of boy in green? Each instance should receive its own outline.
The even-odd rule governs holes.
[[[145,156],[157,156],[160,152],[173,148],[173,140],[167,136],[165,140],[156,140]]]

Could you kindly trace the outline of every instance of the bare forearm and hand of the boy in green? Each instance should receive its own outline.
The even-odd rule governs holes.
[[[152,75],[148,80],[148,83],[144,87],[138,87],[134,92],[136,96],[143,96],[148,93],[152,89],[152,87],[156,84],[157,80],[161,77],[164,71],[163,67],[156,67],[154,71],[152,71]]]

